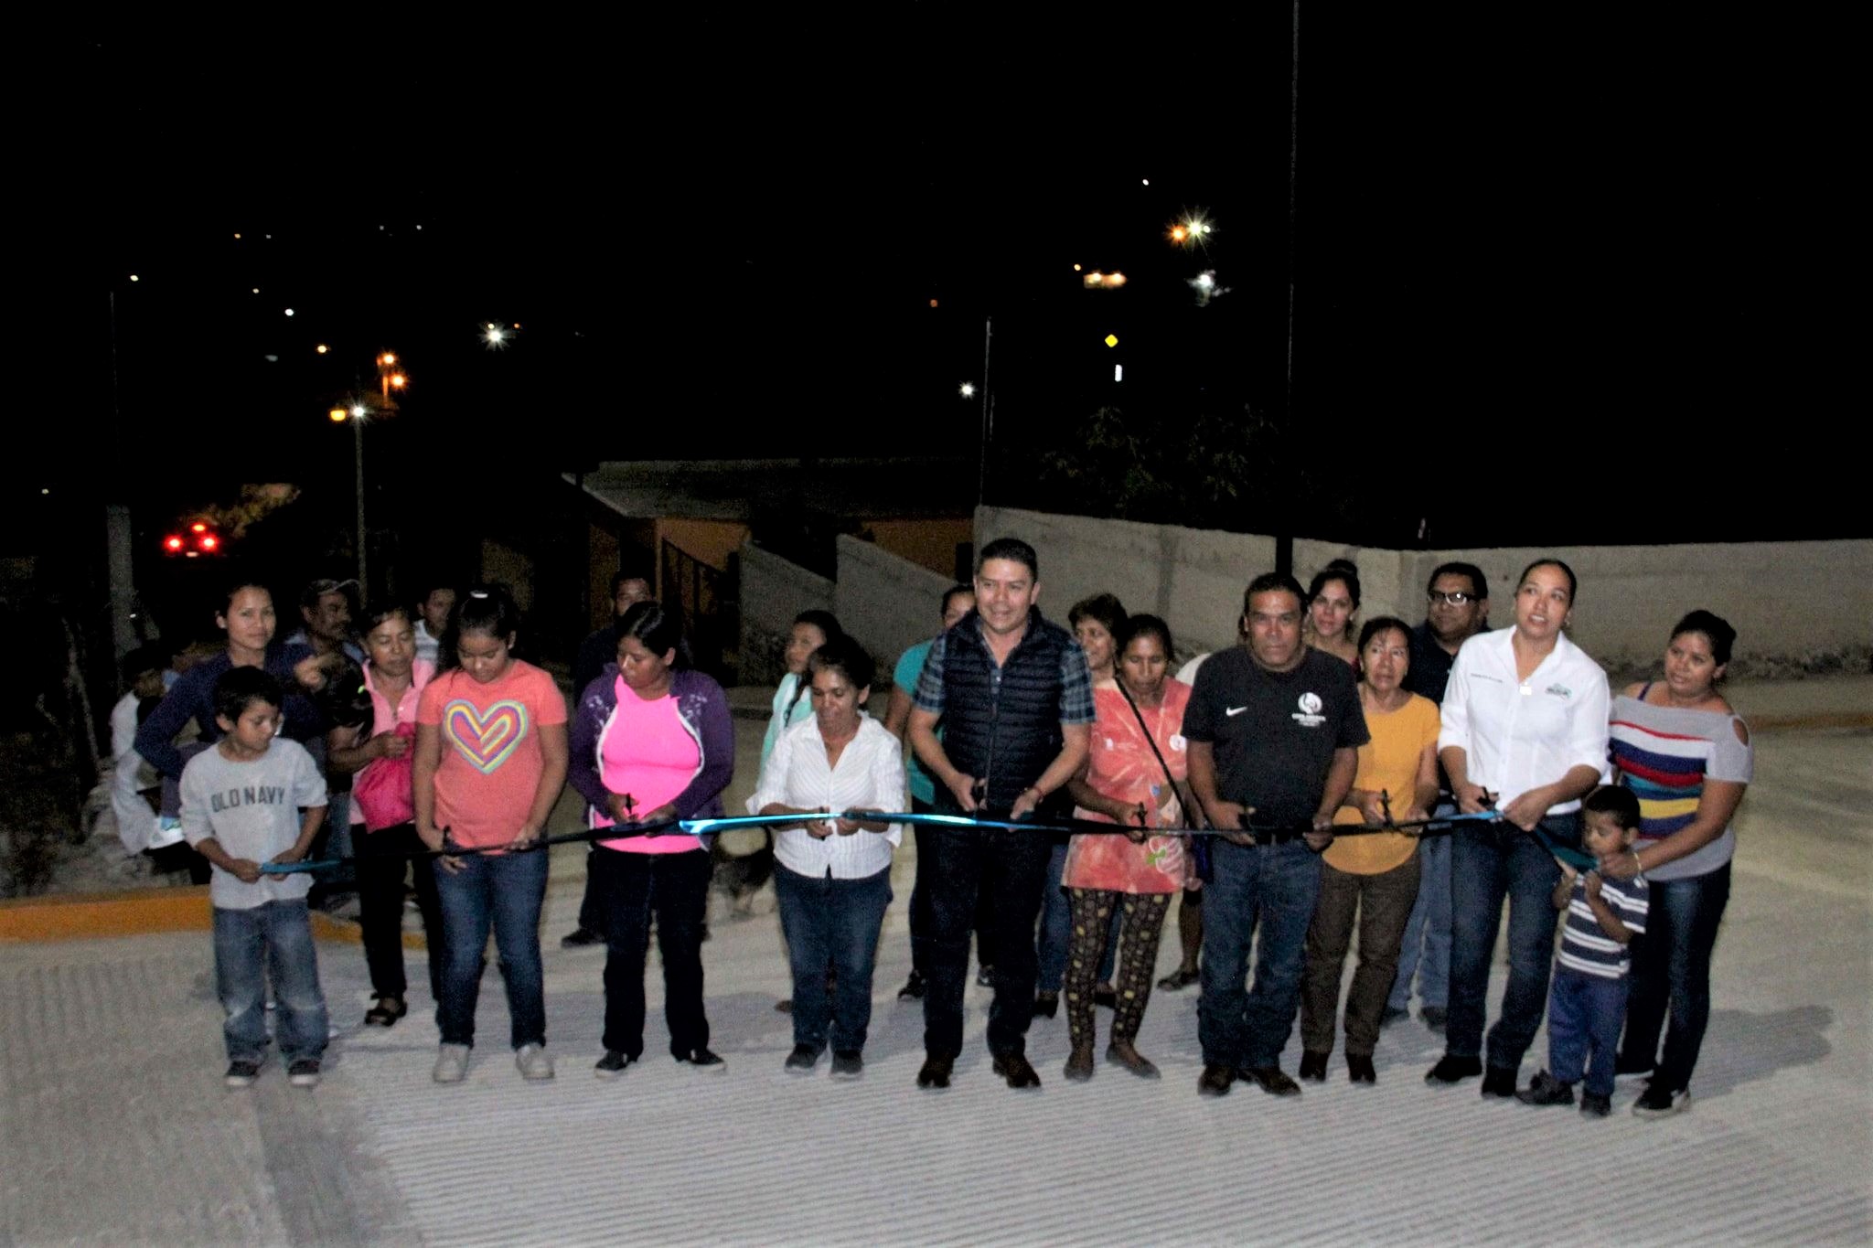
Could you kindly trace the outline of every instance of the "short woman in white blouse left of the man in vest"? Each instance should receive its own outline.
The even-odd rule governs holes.
[[[774,842],[774,891],[794,973],[787,1070],[811,1074],[830,1042],[835,1080],[865,1068],[871,971],[892,904],[892,849],[903,838],[895,823],[826,818],[903,808],[903,748],[860,709],[871,675],[871,655],[850,638],[828,638],[813,651],[813,717],[775,741],[751,803],[760,814],[809,816]]]

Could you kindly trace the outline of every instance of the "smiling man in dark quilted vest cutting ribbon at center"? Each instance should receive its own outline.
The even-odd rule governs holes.
[[[1092,674],[1073,636],[1041,619],[1040,561],[1013,537],[976,559],[976,610],[931,646],[910,711],[910,747],[936,780],[940,814],[1019,820],[1071,814],[1064,793],[1092,737]],[[944,737],[936,739],[942,720]],[[995,922],[989,1053],[1010,1087],[1040,1087],[1026,1059],[1034,1018],[1034,921],[1053,844],[1004,829],[931,829],[918,838],[929,934],[923,1068],[918,1087],[950,1087],[963,1052],[963,980],[976,896]]]

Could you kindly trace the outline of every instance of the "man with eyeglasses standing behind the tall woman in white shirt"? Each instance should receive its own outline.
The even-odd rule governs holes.
[[[1410,631],[1410,670],[1405,689],[1444,704],[1450,666],[1457,649],[1489,629],[1489,580],[1474,563],[1438,563],[1425,586],[1425,621]],[[1448,793],[1442,765],[1437,784]],[[1452,801],[1440,801],[1435,814],[1455,814]],[[1444,1029],[1450,1003],[1450,836],[1425,836],[1418,844],[1418,902],[1405,921],[1399,943],[1399,973],[1392,980],[1380,1023],[1410,1016],[1410,982],[1418,977],[1418,1016],[1431,1031]]]

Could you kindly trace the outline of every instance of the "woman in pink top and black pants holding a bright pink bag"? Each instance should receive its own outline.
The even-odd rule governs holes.
[[[416,704],[436,668],[416,657],[416,625],[406,606],[380,606],[363,621],[363,692],[371,724],[326,733],[326,769],[356,775],[350,801],[358,853],[358,907],[363,960],[376,995],[363,1022],[390,1027],[410,1012],[403,994],[403,881],[416,878],[416,906],[429,945],[429,992],[442,999],[442,915],[436,878],[416,836],[416,786],[410,748]],[[401,801],[399,801],[401,799]],[[369,806],[369,814],[367,808]],[[401,816],[401,818],[397,818]],[[391,821],[384,821],[391,820]]]

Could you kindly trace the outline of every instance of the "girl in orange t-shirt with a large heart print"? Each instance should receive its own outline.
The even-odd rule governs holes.
[[[506,589],[470,589],[442,638],[459,666],[431,679],[416,707],[416,834],[444,853],[435,863],[446,947],[436,1083],[468,1072],[491,926],[513,1061],[526,1080],[553,1078],[539,965],[547,855],[536,842],[566,784],[566,698],[551,675],[513,657],[519,621]]]

